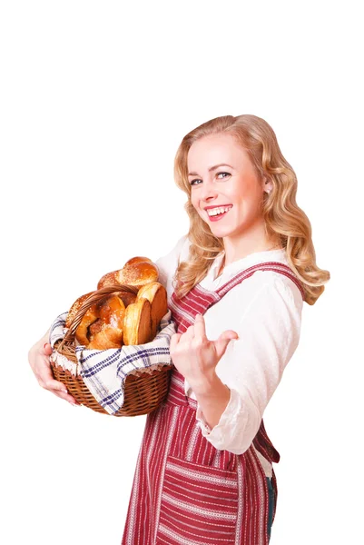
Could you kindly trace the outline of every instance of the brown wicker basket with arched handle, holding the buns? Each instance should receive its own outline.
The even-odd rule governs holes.
[[[64,335],[64,339],[54,344],[54,351],[62,354],[70,362],[77,363],[74,350],[74,334],[84,317],[84,313],[95,302],[102,301],[112,293],[122,291],[136,294],[138,289],[133,286],[115,285],[93,292],[75,314],[69,330]],[[52,359],[51,365],[54,379],[63,382],[76,401],[93,411],[109,414],[93,397],[80,375],[74,376],[70,371],[53,362]],[[139,414],[148,414],[156,409],[167,395],[171,372],[172,366],[161,364],[157,367],[153,366],[152,369],[140,369],[133,372],[133,374],[129,374],[124,382],[123,407],[113,413],[113,416],[137,416]]]

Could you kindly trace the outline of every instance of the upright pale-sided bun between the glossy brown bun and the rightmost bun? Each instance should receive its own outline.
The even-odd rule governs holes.
[[[152,341],[152,305],[143,298],[126,307],[123,343],[143,344],[150,341]]]

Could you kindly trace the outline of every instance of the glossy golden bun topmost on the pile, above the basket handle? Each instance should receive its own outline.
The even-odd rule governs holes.
[[[143,285],[158,280],[158,267],[147,257],[133,257],[127,261],[123,269],[104,274],[97,284],[97,289],[126,284],[141,288]]]

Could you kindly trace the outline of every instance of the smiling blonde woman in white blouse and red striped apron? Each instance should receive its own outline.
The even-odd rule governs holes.
[[[330,273],[261,118],[221,116],[187,134],[175,181],[190,230],[157,262],[178,328],[174,368],[147,416],[122,544],[267,545],[280,454],[262,416],[298,346],[303,301],[317,301]],[[46,342],[31,349],[32,368],[73,402]]]

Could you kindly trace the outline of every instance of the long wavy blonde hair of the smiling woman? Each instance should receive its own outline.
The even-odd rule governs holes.
[[[223,250],[222,239],[212,234],[191,202],[187,155],[194,142],[211,134],[231,134],[248,152],[261,180],[271,180],[271,193],[264,193],[262,214],[269,238],[277,238],[285,249],[290,269],[302,282],[304,301],[314,304],[330,280],[330,272],[316,264],[311,239],[311,225],[307,215],[296,203],[297,178],[290,164],[280,152],[277,137],[270,124],[256,115],[222,115],[201,124],[182,139],[174,159],[174,181],[187,194],[185,209],[190,217],[190,253],[179,264],[173,285],[177,297],[182,298],[201,282],[213,260]]]

